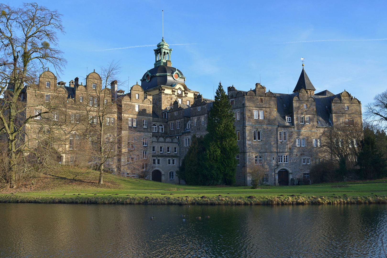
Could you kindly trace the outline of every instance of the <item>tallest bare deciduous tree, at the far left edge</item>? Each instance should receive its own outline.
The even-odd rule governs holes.
[[[17,186],[16,161],[25,147],[23,128],[41,115],[25,115],[25,106],[19,101],[21,92],[26,85],[36,84],[39,69],[45,65],[61,72],[66,63],[62,51],[55,48],[57,33],[63,32],[60,17],[57,10],[37,3],[19,8],[0,4],[0,132],[7,141],[7,184],[11,188]]]

